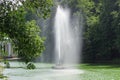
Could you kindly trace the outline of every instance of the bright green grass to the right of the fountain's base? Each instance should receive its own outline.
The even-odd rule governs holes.
[[[80,80],[120,80],[119,65],[81,64],[79,68],[84,70]]]

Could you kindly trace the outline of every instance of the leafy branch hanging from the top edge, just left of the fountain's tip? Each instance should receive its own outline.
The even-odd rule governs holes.
[[[50,16],[52,0],[26,0],[24,7],[42,18]]]

